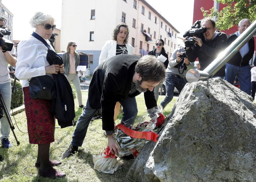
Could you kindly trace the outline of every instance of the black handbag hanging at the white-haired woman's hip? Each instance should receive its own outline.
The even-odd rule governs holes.
[[[56,85],[49,75],[36,76],[29,81],[30,98],[52,100],[56,98]]]

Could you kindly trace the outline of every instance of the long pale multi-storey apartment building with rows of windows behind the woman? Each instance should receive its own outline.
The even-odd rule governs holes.
[[[134,55],[147,54],[156,47],[156,40],[162,38],[170,58],[178,47],[180,32],[169,21],[145,0],[62,0],[61,50],[65,51],[68,41],[75,41],[77,51],[89,54],[92,73],[98,66],[102,46],[112,39],[115,26],[126,23]],[[152,41],[146,41],[144,29]]]

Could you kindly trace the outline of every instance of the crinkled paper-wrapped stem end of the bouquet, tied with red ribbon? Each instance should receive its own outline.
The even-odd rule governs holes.
[[[113,174],[121,168],[122,163],[117,160],[117,157],[109,151],[109,146],[103,151],[103,155],[92,156],[94,169],[100,172]]]

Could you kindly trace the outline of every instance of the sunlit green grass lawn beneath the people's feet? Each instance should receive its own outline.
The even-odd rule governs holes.
[[[86,103],[88,92],[82,92],[83,103]],[[158,104],[165,96],[159,96]],[[138,105],[138,116],[146,111],[144,96],[141,94],[136,97]],[[164,115],[169,115],[172,111],[177,98],[166,107]],[[132,107],[132,106],[131,106]],[[77,99],[75,100],[75,120],[82,113],[82,108],[78,107]],[[102,181],[102,182],[120,182],[125,181],[124,177],[132,164],[133,160],[123,161],[122,168],[114,174],[106,174],[93,169],[92,155],[100,155],[107,146],[107,138],[103,136],[101,119],[94,120],[90,123],[87,135],[82,147],[76,155],[63,159],[60,166],[56,169],[66,173],[66,177],[62,179],[50,179],[38,177],[37,168],[34,167],[37,158],[37,145],[29,144],[27,132],[27,120],[25,111],[14,116],[12,121],[15,126],[15,134],[20,141],[17,146],[13,134],[10,134],[10,141],[14,146],[10,149],[0,148],[0,155],[3,161],[0,161],[0,181],[1,182],[24,182],[24,181]],[[122,115],[119,114],[116,123],[120,123]],[[57,122],[56,122],[57,123]],[[21,131],[19,131],[18,127]],[[59,128],[56,124],[55,142],[51,143],[50,158],[59,160],[62,157],[66,147],[69,146],[74,127]]]

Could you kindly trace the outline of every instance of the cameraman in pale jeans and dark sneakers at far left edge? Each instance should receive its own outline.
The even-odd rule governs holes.
[[[14,67],[17,60],[13,57],[13,55],[15,56],[13,44],[9,43],[9,40],[3,37],[3,34],[9,35],[6,32],[10,32],[5,26],[5,20],[6,19],[4,17],[0,16],[0,37],[2,37],[0,38],[0,92],[2,93],[7,112],[10,113],[12,91],[8,64]],[[6,115],[4,114],[4,117],[1,118],[1,143],[6,149],[13,146],[8,139],[10,131],[10,125]]]

